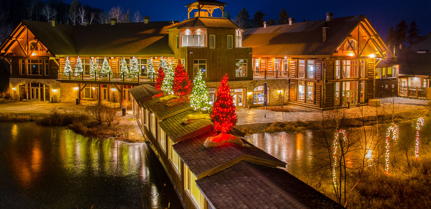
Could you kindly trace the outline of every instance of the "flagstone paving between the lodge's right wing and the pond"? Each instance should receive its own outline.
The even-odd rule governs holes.
[[[390,105],[394,103],[396,113],[406,112],[406,111],[414,111],[414,110],[423,110],[426,109],[426,104],[428,101],[426,100],[418,100],[418,99],[410,99],[410,98],[384,98],[381,100],[381,106],[377,108],[379,114],[382,111],[390,111]],[[376,108],[370,106],[363,106],[363,112],[366,116],[375,115]],[[360,109],[358,107],[351,107],[346,109],[346,113],[351,115],[352,117],[357,117],[360,113]],[[321,116],[320,111],[315,111],[310,109],[309,112],[275,112],[275,111],[266,111],[259,109],[246,109],[246,108],[238,108],[238,123],[237,125],[247,125],[247,124],[256,124],[256,123],[272,123],[272,122],[294,122],[294,121],[312,121],[319,120]]]

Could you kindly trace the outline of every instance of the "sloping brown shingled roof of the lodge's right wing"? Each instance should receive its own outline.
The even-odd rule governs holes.
[[[254,55],[330,56],[365,15],[298,22],[246,29],[242,46],[253,47]],[[329,27],[329,38],[322,41],[322,27]]]

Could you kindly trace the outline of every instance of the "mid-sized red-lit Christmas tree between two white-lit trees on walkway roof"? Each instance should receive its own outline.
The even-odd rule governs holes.
[[[184,96],[190,93],[190,79],[188,77],[187,71],[185,71],[184,66],[181,61],[178,60],[178,65],[175,68],[174,74],[174,84],[172,85],[172,90],[175,95]]]

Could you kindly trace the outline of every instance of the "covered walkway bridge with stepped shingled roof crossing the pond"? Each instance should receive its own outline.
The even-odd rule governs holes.
[[[166,170],[184,208],[343,208],[283,169],[286,163],[244,140],[205,148],[216,136],[209,120],[183,124],[195,113],[189,103],[168,107],[143,84],[129,89],[132,109],[144,137]],[[279,168],[280,167],[280,168]]]

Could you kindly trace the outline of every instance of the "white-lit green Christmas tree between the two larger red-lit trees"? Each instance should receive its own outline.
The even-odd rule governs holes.
[[[205,81],[202,80],[201,71],[197,71],[196,77],[194,77],[194,86],[190,94],[190,106],[198,112],[207,111],[211,108],[211,104],[209,104],[209,92]]]

